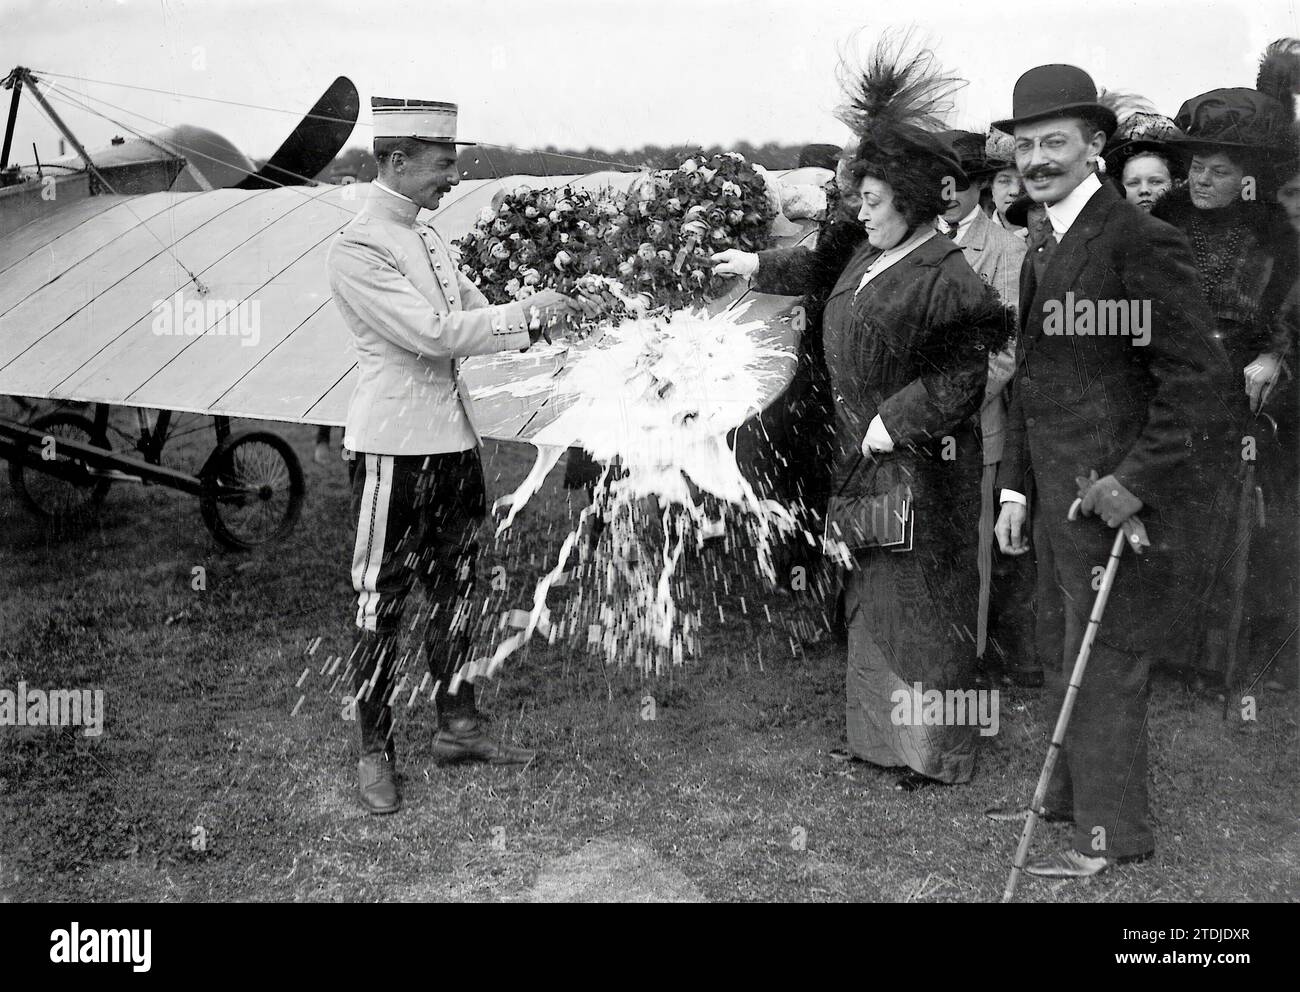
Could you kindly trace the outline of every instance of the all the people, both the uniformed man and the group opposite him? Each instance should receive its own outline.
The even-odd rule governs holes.
[[[1124,528],[1139,554],[1039,810],[1074,824],[1072,845],[1028,871],[1145,858],[1152,666],[1223,688],[1296,672],[1300,42],[1269,48],[1254,88],[1192,96],[1173,118],[1043,65],[1010,116],[950,130],[961,79],[888,38],[844,82],[854,138],[831,163],[815,247],[714,256],[720,274],[803,298],[772,485],[848,566],[842,757],[900,770],[901,789],[968,781],[978,728],[900,720],[898,692],[1045,681],[1058,705]],[[485,510],[458,361],[526,348],[610,300],[488,306],[416,221],[458,182],[455,107],[376,99],[380,178],[329,267],[360,356],[343,438],[350,664],[360,797],[384,814],[400,807],[389,703],[416,580],[446,607],[425,645],[437,755],[532,758],[493,740],[458,685]]]

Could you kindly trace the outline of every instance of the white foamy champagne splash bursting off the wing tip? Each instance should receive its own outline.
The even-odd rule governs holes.
[[[754,491],[729,437],[760,411],[762,361],[786,352],[755,341],[753,333],[764,325],[745,321],[748,308],[625,320],[563,376],[534,377],[546,378],[551,402],[566,408],[536,434],[538,454],[528,477],[497,501],[497,508],[508,510],[498,536],[568,447],[582,446],[606,468],[592,504],[537,584],[532,608],[510,614],[516,632],[490,658],[467,663],[458,680],[494,675],[534,633],[551,642],[581,638],[607,663],[630,659],[645,673],[681,664],[696,654],[701,624],[681,564],[706,545],[734,550],[728,563],[744,562],[760,580],[776,581],[772,540],[798,525],[788,508]],[[525,380],[512,391],[540,387]],[[741,547],[753,551],[751,559],[738,554]],[[567,584],[575,563],[589,563],[582,571],[590,579],[555,621],[547,597]]]

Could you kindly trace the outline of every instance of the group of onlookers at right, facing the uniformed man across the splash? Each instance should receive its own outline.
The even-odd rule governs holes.
[[[848,758],[967,781],[976,728],[900,725],[896,693],[1045,677],[1060,707],[1110,534],[1141,523],[1039,811],[1074,844],[1034,874],[1152,853],[1152,666],[1295,685],[1297,83],[1283,39],[1253,88],[1167,118],[1046,65],[953,131],[961,81],[885,42],[848,79],[818,246],[718,256],[809,309],[775,488],[832,525],[900,484],[914,507],[910,551],[863,527],[842,573]]]

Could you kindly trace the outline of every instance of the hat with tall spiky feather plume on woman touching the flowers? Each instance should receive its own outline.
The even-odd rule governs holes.
[[[966,85],[935,64],[935,53],[913,43],[911,33],[881,35],[866,64],[840,62],[846,103],[836,111],[858,137],[858,157],[906,164],[918,157],[966,182],[961,160],[944,140],[944,116]]]

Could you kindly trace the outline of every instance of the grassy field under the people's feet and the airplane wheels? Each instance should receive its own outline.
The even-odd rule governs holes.
[[[523,771],[434,766],[433,714],[416,705],[399,731],[407,807],[367,815],[352,725],[317,675],[350,642],[346,472],[311,463],[311,429],[282,433],[304,460],[307,504],[287,542],[252,554],[221,551],[194,501],[126,486],[98,524],[52,542],[0,484],[0,688],[107,697],[98,738],[0,728],[0,897],[520,900],[592,839],[649,849],[710,900],[998,897],[1018,831],[980,811],[1027,800],[1054,716],[1040,694],[1004,696],[974,783],[900,793],[892,775],[827,757],[842,741],[842,649],[796,655],[738,611],[671,677],[560,646],[512,658],[481,696],[500,732],[542,749]],[[500,494],[530,450],[485,455]],[[516,605],[542,563],[526,555],[554,551],[569,512],[552,475],[511,562]],[[768,603],[780,621],[814,618]],[[1261,693],[1257,722],[1225,722],[1158,684],[1157,857],[1088,883],[1030,879],[1020,898],[1300,897],[1295,702]],[[1066,841],[1044,826],[1036,844]]]

